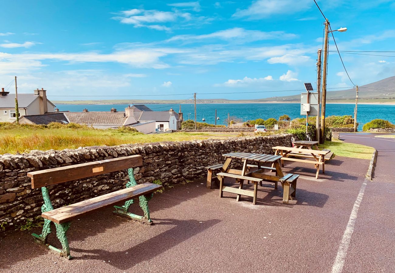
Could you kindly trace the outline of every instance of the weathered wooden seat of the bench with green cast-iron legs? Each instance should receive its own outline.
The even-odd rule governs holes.
[[[130,200],[144,194],[153,193],[154,191],[157,191],[161,188],[161,185],[146,182],[134,187],[97,196],[69,206],[43,212],[41,217],[49,219],[58,224],[62,224],[74,219],[75,217],[95,211],[96,209]]]

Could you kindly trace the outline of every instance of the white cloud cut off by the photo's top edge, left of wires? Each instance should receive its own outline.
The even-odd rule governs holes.
[[[256,0],[247,9],[239,9],[233,17],[260,19],[276,14],[291,14],[308,9],[312,4],[310,0]]]

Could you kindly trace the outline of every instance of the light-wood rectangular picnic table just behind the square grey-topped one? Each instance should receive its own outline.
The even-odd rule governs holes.
[[[318,173],[320,172],[320,165],[322,165],[322,173],[325,174],[325,155],[330,153],[330,150],[328,149],[320,151],[284,146],[275,146],[273,149],[276,150],[276,155],[282,155],[281,166],[284,166],[284,160],[311,163],[314,164],[315,168],[317,169],[316,179],[318,178]],[[292,158],[290,156],[304,157],[305,159]]]

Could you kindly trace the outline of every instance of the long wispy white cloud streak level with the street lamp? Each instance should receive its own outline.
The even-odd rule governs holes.
[[[167,42],[171,41],[199,41],[205,39],[222,39],[226,41],[239,41],[247,43],[252,41],[268,40],[268,39],[292,39],[297,37],[295,34],[286,33],[283,31],[263,32],[260,30],[246,30],[244,28],[229,28],[227,30],[220,30],[210,34],[202,35],[177,35]],[[238,39],[236,39],[238,38]],[[235,40],[236,39],[236,40]]]

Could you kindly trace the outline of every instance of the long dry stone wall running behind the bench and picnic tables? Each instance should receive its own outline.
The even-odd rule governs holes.
[[[164,185],[202,178],[205,166],[224,162],[232,151],[273,153],[273,146],[291,146],[291,136],[272,135],[227,140],[199,140],[161,144],[95,146],[76,150],[38,151],[0,155],[0,232],[26,223],[41,214],[41,189],[32,189],[26,173],[127,155],[142,155],[143,166],[135,168],[137,183],[160,180]],[[49,194],[54,208],[122,189],[126,170],[85,180],[52,185]]]

